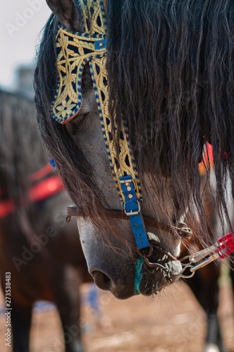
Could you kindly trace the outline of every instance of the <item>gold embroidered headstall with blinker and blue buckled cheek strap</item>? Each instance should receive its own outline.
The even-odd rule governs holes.
[[[142,189],[130,147],[128,127],[123,119],[120,127],[119,153],[113,142],[112,132],[115,126],[111,123],[108,111],[106,30],[103,11],[99,13],[99,20],[102,21],[100,26],[102,30],[94,34],[68,32],[66,28],[58,26],[56,34],[58,86],[51,105],[51,116],[57,123],[64,124],[79,113],[82,106],[82,71],[85,64],[89,63],[113,180],[125,214],[128,215],[133,227],[138,249],[149,249],[150,245],[140,209]]]

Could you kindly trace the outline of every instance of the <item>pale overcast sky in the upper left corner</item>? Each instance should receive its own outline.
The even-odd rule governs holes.
[[[45,0],[0,0],[0,87],[18,89],[16,70],[33,67],[40,31],[51,11]]]

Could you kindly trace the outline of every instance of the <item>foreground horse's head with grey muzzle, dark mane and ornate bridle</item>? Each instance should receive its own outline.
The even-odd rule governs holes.
[[[205,2],[199,11],[208,13]],[[78,208],[90,274],[117,298],[156,294],[175,282],[179,223],[189,210],[204,224],[198,164],[211,129],[199,114],[204,106],[207,118],[211,111],[209,97],[201,98],[209,84],[198,81],[207,22],[204,13],[195,21],[190,46],[187,13],[196,11],[183,18],[173,3],[47,1],[54,15],[35,71],[37,120]],[[221,161],[220,148],[214,156]],[[110,215],[123,206],[130,221]]]

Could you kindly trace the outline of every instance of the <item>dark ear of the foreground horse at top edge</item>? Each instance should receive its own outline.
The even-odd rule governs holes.
[[[82,32],[82,18],[74,0],[47,0],[47,5],[69,32]]]

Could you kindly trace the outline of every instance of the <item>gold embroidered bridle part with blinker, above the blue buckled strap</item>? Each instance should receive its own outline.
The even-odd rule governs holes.
[[[137,200],[142,201],[142,190],[137,165],[130,148],[128,127],[122,120],[120,153],[113,143],[114,130],[109,118],[109,92],[106,72],[106,17],[101,0],[80,0],[85,31],[68,32],[61,25],[56,34],[58,86],[51,105],[51,116],[57,123],[64,124],[78,114],[82,106],[82,71],[90,64],[90,72],[97,99],[97,106],[104,135],[106,151],[111,165],[116,189],[125,203],[119,178],[130,175],[135,182]],[[92,20],[89,20],[91,18]]]

